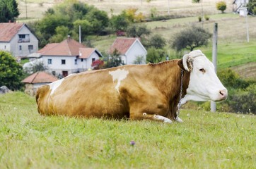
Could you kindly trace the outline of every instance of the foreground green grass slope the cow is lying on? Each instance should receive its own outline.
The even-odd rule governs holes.
[[[255,115],[180,117],[168,125],[42,116],[34,97],[1,95],[0,168],[256,168]]]

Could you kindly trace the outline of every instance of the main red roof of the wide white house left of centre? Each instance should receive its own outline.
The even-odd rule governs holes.
[[[79,56],[79,48],[85,47],[74,39],[65,39],[57,44],[48,44],[37,53],[40,52],[41,56]]]

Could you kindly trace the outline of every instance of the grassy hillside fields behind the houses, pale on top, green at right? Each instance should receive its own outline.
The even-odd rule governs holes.
[[[158,15],[168,14],[168,1],[151,1],[147,3],[146,1],[124,1],[124,0],[103,0],[103,1],[86,1],[86,4],[91,4],[97,8],[107,11],[109,15],[120,13],[125,8],[138,8],[139,12],[144,13],[144,15],[149,15],[151,8],[156,8]],[[61,0],[27,0],[27,15],[28,20],[37,20],[42,17],[42,13],[47,10],[47,8],[54,6],[62,2]],[[255,63],[256,63],[256,17],[248,16],[248,27],[250,35],[250,43],[247,43],[246,38],[246,20],[240,17],[238,14],[231,13],[233,8],[233,1],[226,1],[228,8],[226,14],[220,14],[216,10],[216,1],[209,0],[203,1],[202,4],[193,4],[192,0],[183,1],[170,1],[170,15],[183,15],[190,16],[186,18],[177,18],[171,20],[163,20],[156,22],[145,23],[151,32],[158,33],[165,37],[168,42],[166,45],[166,53],[170,58],[177,56],[173,49],[170,49],[169,44],[172,39],[177,35],[180,30],[190,27],[192,25],[204,26],[209,32],[213,32],[214,23],[218,23],[218,57],[219,57],[219,68],[233,68],[242,77],[256,78],[255,73]],[[115,8],[113,8],[115,7]],[[198,15],[201,15],[202,7],[204,14],[209,15],[209,21],[204,21],[204,23],[198,22]],[[18,22],[27,22],[25,19],[25,0],[19,1],[19,8],[21,10],[21,15]],[[99,37],[88,37],[91,44],[95,46],[99,51],[106,52],[114,42],[116,36],[99,36]],[[211,42],[209,46],[201,47],[202,51],[211,58]],[[250,63],[250,65],[247,65]]]

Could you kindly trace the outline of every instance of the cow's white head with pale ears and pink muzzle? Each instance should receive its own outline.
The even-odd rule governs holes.
[[[228,96],[228,90],[223,87],[217,77],[214,64],[200,50],[185,54],[179,61],[180,68],[190,72],[190,83],[182,104],[188,100],[223,101]]]

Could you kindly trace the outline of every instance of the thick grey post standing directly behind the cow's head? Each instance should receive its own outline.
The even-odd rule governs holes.
[[[214,23],[214,35],[212,44],[212,63],[215,67],[215,73],[217,73],[217,42],[218,42],[218,23]],[[216,112],[216,103],[211,101],[211,112]]]

